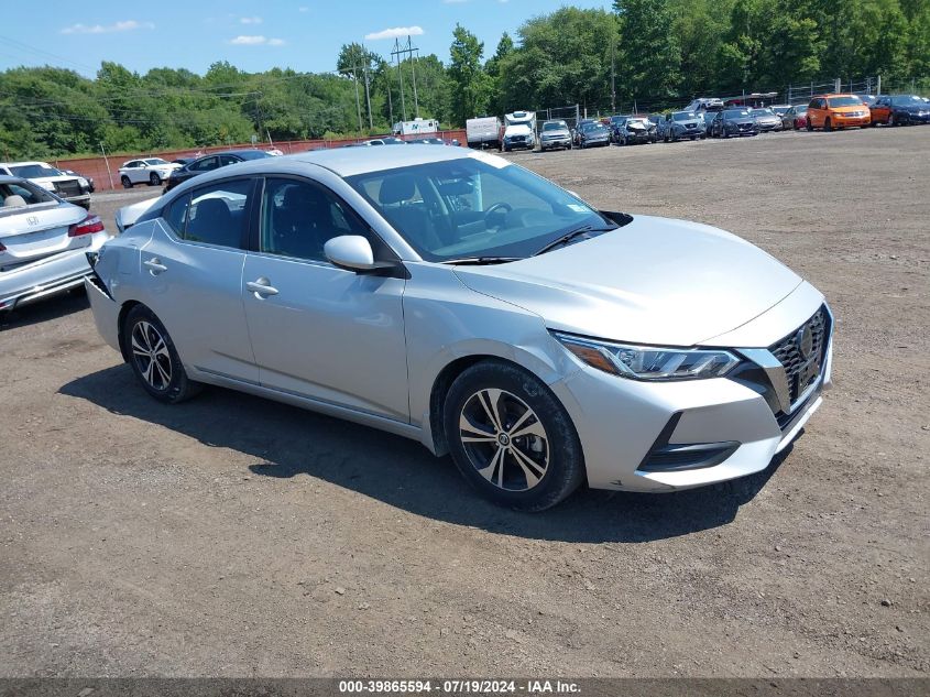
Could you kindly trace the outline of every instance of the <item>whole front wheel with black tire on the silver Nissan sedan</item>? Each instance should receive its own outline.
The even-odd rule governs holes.
[[[459,471],[497,504],[543,511],[583,480],[571,418],[549,388],[516,366],[483,361],[459,375],[444,428]]]

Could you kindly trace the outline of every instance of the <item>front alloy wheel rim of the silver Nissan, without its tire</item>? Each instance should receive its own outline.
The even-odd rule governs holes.
[[[466,400],[459,437],[472,467],[505,491],[536,487],[549,467],[549,439],[526,402],[505,390],[483,389]]]

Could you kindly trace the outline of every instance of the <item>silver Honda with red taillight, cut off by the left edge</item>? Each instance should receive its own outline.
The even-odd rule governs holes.
[[[84,283],[108,237],[98,216],[19,176],[0,175],[0,311]]]

